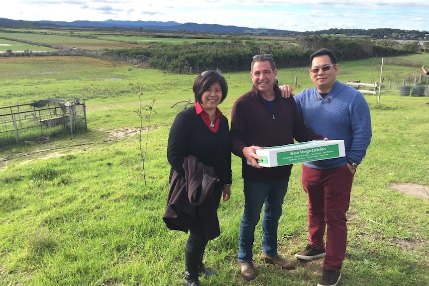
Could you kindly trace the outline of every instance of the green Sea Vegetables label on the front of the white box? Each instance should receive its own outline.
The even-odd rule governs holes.
[[[338,145],[327,145],[287,152],[277,153],[278,165],[289,165],[303,161],[317,161],[327,158],[339,157]]]

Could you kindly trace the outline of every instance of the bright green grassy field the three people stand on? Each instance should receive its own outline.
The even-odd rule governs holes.
[[[373,139],[359,166],[348,212],[348,248],[340,285],[424,286],[429,281],[429,200],[392,184],[429,186],[429,97],[399,96],[404,79],[420,77],[429,55],[385,59],[380,95],[365,95]],[[398,65],[398,62],[400,63]],[[341,81],[378,82],[381,59],[339,64]],[[249,72],[225,73],[229,93],[219,106],[229,118],[235,99],[251,88]],[[296,92],[312,86],[308,67],[280,69],[280,83]],[[195,75],[83,57],[0,59],[0,106],[44,98],[85,99],[88,132],[45,144],[0,146],[0,285],[181,285],[187,235],[166,229],[169,127],[193,100]],[[391,81],[389,89],[387,83]],[[142,105],[155,98],[143,163],[138,144]],[[143,110],[143,113],[147,111]],[[143,122],[143,127],[148,125]],[[143,144],[144,147],[145,144]],[[237,262],[243,194],[240,161],[233,156],[231,200],[221,203],[221,235],[207,247],[217,276],[205,286],[314,286],[322,261],[283,271],[254,259],[258,278],[245,282]],[[307,244],[301,165],[294,166],[279,225],[279,253]]]

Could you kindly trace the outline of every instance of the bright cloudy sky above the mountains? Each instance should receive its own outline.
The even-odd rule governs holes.
[[[316,31],[395,28],[429,31],[429,0],[13,0],[0,18],[194,22]]]

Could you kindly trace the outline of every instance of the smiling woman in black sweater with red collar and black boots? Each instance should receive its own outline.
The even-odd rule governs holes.
[[[212,270],[204,266],[203,254],[209,240],[220,234],[216,209],[222,192],[223,201],[229,199],[232,182],[228,119],[217,108],[217,105],[225,99],[228,91],[226,80],[217,71],[206,71],[196,78],[193,90],[195,106],[177,114],[168,138],[167,158],[171,165],[171,185],[167,208],[172,196],[175,195],[172,189],[177,187],[177,182],[173,183],[176,179],[173,178],[183,180],[187,176],[189,172],[185,172],[184,166],[191,156],[195,157],[205,167],[211,168],[215,179],[213,189],[200,205],[189,202],[189,200],[195,199],[196,195],[189,196],[189,200],[187,199],[184,203],[183,200],[178,203],[181,204],[179,207],[186,207],[187,210],[192,208],[192,211],[189,211],[189,216],[185,216],[189,218],[186,220],[185,226],[169,227],[185,232],[189,229],[189,237],[185,247],[185,286],[200,286],[199,275],[205,277],[214,275]],[[186,166],[187,169],[188,165]],[[186,188],[186,195],[189,194],[189,191]],[[199,195],[197,194],[197,196]],[[214,206],[214,212],[208,214],[211,206]],[[176,205],[175,209],[177,208]],[[163,218],[169,226],[167,222],[171,216],[167,212],[168,210]],[[213,231],[216,229],[218,231]]]

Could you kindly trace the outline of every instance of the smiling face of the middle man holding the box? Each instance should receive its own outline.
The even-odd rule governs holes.
[[[252,77],[253,85],[263,97],[274,95],[273,88],[277,78],[277,70],[272,70],[270,61],[256,61],[253,64],[250,76]]]

